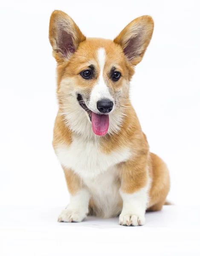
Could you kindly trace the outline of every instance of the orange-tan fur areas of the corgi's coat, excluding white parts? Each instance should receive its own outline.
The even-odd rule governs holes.
[[[68,19],[72,24],[72,28],[76,31],[75,36],[75,53],[70,56],[68,60],[63,58],[61,53],[57,50],[56,40],[56,20]],[[123,53],[126,47],[124,38],[128,37],[130,28],[137,23],[142,23],[146,26],[146,32],[142,38],[141,53],[128,61]],[[72,79],[75,86],[80,87],[80,90],[85,90],[90,94],[96,80],[87,81],[78,76],[84,67],[87,67],[88,60],[97,62],[95,52],[99,47],[104,47],[107,55],[107,62],[105,64],[104,73],[108,74],[110,67],[114,64],[122,73],[122,78],[119,82],[113,85],[113,82],[107,79],[107,86],[113,90],[123,87],[125,81],[130,81],[134,74],[134,67],[138,64],[145,53],[146,48],[151,40],[153,33],[153,20],[149,16],[143,16],[133,20],[124,30],[117,36],[114,41],[99,39],[99,38],[85,38],[78,26],[71,20],[71,18],[60,11],[53,12],[49,25],[49,40],[53,47],[53,56],[55,57],[57,66],[57,96],[59,102],[58,116],[55,120],[53,146],[56,148],[58,144],[70,145],[72,143],[72,131],[66,125],[62,116],[62,86],[61,81],[65,78]],[[117,58],[116,58],[117,56]],[[99,70],[98,70],[99,72]],[[96,74],[98,77],[99,73]],[[107,75],[108,76],[108,75]],[[145,134],[143,134],[139,120],[131,105],[129,99],[129,91],[124,92],[121,98],[121,104],[126,107],[126,116],[123,119],[121,130],[116,134],[106,134],[101,138],[101,151],[104,154],[110,154],[119,148],[128,146],[131,149],[132,155],[129,160],[120,163],[119,179],[116,181],[121,185],[122,192],[133,193],[139,191],[148,183],[148,175],[151,177],[150,201],[148,204],[149,210],[155,211],[162,209],[165,204],[165,198],[170,188],[170,179],[168,169],[165,163],[157,157],[157,155],[149,152],[148,142]],[[82,186],[80,177],[75,175],[73,170],[64,168],[67,186],[71,194],[75,194]],[[119,202],[122,204],[122,201]],[[95,213],[95,202],[90,201],[90,212]]]

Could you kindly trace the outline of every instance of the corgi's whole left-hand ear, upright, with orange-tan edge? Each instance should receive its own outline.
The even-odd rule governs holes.
[[[49,23],[49,41],[53,56],[58,63],[68,61],[78,45],[86,37],[70,16],[61,11],[54,11]]]

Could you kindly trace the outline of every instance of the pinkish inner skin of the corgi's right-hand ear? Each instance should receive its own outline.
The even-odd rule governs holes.
[[[142,47],[142,32],[140,32],[138,35],[128,40],[128,44],[124,48],[124,53],[129,60],[133,60],[133,58],[141,54],[141,51],[140,51],[141,47]]]

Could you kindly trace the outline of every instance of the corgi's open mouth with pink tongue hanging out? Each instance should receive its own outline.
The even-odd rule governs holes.
[[[77,100],[81,108],[87,112],[90,121],[92,122],[93,132],[98,136],[104,136],[107,134],[109,128],[109,115],[108,114],[97,114],[87,108],[81,94],[77,95]]]

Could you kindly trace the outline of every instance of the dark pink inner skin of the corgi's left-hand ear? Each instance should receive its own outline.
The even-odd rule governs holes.
[[[64,29],[61,29],[59,32],[60,36],[58,38],[58,47],[61,51],[61,53],[68,57],[69,53],[75,52],[75,46],[72,41],[72,36],[65,31]]]

